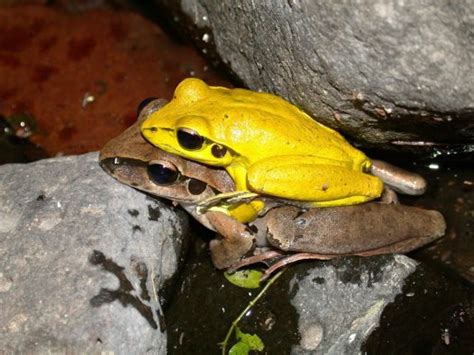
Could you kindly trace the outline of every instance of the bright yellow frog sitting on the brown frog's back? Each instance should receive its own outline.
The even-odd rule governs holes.
[[[267,93],[185,79],[173,100],[147,117],[142,133],[169,153],[225,167],[237,191],[328,207],[369,201],[383,189],[365,173],[371,162],[362,152]]]

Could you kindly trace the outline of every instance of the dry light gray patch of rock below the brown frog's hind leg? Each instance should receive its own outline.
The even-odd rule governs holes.
[[[344,258],[292,282],[299,314],[295,354],[356,354],[379,324],[385,306],[400,294],[417,263],[402,255]]]

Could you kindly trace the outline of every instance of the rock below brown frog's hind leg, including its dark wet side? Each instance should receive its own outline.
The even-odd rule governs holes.
[[[406,256],[320,262],[292,282],[300,335],[292,353],[474,350],[472,286]]]

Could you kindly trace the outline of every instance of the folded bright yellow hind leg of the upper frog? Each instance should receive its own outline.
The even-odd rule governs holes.
[[[337,164],[308,156],[272,157],[249,167],[247,183],[257,193],[302,201],[340,200],[335,205],[380,196],[383,183],[379,178],[347,168],[343,162]]]

